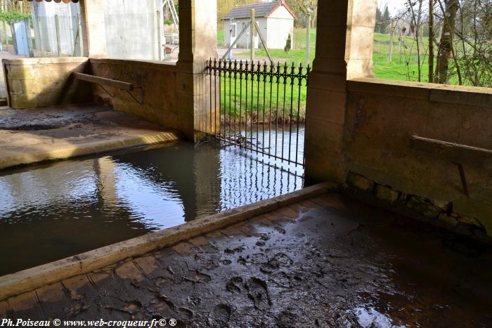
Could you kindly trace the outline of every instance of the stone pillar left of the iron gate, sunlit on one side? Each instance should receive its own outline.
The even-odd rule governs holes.
[[[210,0],[179,0],[179,86],[186,138],[213,133],[206,61],[217,56],[217,4]]]

